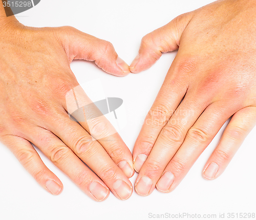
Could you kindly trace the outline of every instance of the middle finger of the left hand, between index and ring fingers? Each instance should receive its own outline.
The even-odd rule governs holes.
[[[133,187],[129,179],[99,142],[78,123],[70,120],[66,112],[60,114],[57,123],[48,127],[97,174],[117,198],[125,200],[130,197]]]

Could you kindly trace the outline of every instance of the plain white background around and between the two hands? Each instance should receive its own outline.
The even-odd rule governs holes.
[[[165,25],[181,13],[210,2],[41,0],[35,8],[18,14],[17,18],[24,25],[34,27],[69,25],[111,41],[118,55],[130,64],[145,34]],[[75,61],[71,64],[79,83],[101,79],[106,96],[123,99],[127,125],[120,135],[131,151],[142,121],[155,100],[175,54],[164,54],[151,69],[124,78],[108,75],[90,62]],[[207,181],[201,176],[202,168],[222,131],[172,193],[164,194],[155,190],[148,197],[140,197],[134,192],[127,201],[120,201],[111,194],[101,203],[89,199],[39,152],[42,160],[64,185],[60,195],[51,195],[33,180],[6,146],[1,144],[0,219],[148,219],[148,213],[188,212],[219,216],[223,212],[226,215],[228,212],[256,212],[256,129],[246,138],[220,178]],[[131,178],[133,184],[136,177],[137,174]]]

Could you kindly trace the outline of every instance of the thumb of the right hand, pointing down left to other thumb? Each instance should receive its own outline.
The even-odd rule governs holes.
[[[148,69],[162,53],[178,50],[181,35],[192,16],[192,12],[179,15],[167,25],[145,35],[141,40],[139,54],[130,65],[130,71],[138,73]]]

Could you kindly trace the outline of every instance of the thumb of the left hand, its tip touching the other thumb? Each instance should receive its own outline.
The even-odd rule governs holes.
[[[104,71],[120,77],[130,73],[129,65],[118,57],[114,46],[109,41],[101,40],[70,26],[57,29],[58,39],[69,62],[74,59],[95,61],[96,65]]]

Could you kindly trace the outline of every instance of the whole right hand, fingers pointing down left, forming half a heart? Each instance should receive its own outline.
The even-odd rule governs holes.
[[[132,72],[179,51],[135,143],[139,194],[174,190],[232,116],[203,168],[216,179],[255,125],[255,10],[255,1],[217,1],[143,37]]]

